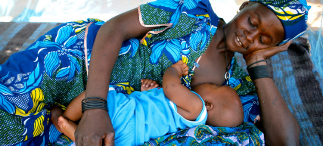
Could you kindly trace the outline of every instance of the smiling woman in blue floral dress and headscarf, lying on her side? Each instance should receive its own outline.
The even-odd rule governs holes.
[[[27,51],[13,54],[2,65],[1,114],[17,130],[1,139],[36,145],[38,141],[48,142],[50,135],[43,136],[50,131],[50,113],[46,107],[55,103],[67,105],[75,94],[81,93],[85,89],[85,70],[89,74],[86,97],[106,98],[107,83],[121,87],[121,92],[138,90],[143,78],[160,83],[168,66],[186,58],[191,76],[184,77],[183,84],[188,87],[202,83],[222,85],[226,81],[223,76],[229,77],[226,72],[230,73],[228,66],[234,62],[230,61],[234,52],[244,54],[250,65],[285,51],[288,41],[306,30],[306,2],[304,5],[303,1],[261,3],[264,2],[245,2],[241,12],[228,24],[219,20],[208,1],[156,1],[104,24],[71,22],[53,29]],[[296,5],[295,9],[301,11],[295,10],[297,15],[284,13],[284,6],[289,5]],[[284,18],[294,21],[285,22]],[[291,31],[294,27],[300,31]],[[141,44],[139,39],[131,39],[140,36],[145,36],[140,38]],[[278,47],[278,44],[284,45]],[[91,66],[87,68],[90,61]],[[192,71],[194,65],[199,67]],[[266,63],[262,61],[251,67],[261,65]],[[124,71],[124,68],[131,69]],[[298,124],[267,77],[253,78],[261,108],[259,128],[264,132],[266,144],[297,145]],[[250,85],[244,83],[242,86]],[[8,128],[5,123],[2,127]],[[78,145],[99,145],[102,138],[106,144],[114,141],[109,115],[96,108],[85,110],[75,135]]]

